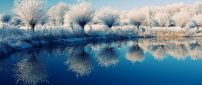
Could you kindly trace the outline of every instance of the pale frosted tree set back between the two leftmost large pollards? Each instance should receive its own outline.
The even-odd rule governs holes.
[[[65,2],[60,2],[56,6],[53,6],[48,11],[49,22],[54,25],[64,24],[64,15],[69,10],[69,5]]]

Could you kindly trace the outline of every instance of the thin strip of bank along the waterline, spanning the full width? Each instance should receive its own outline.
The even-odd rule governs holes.
[[[55,39],[55,40],[33,40],[33,41],[18,41],[14,42],[10,45],[1,45],[0,47],[0,56],[9,55],[15,52],[27,50],[27,49],[34,49],[34,48],[41,48],[46,46],[57,46],[57,45],[78,45],[83,43],[98,43],[98,42],[113,42],[113,41],[120,41],[120,40],[138,40],[138,39],[149,39],[149,38],[193,38],[195,36],[150,36],[150,37],[143,37],[143,36],[133,36],[133,37],[80,37],[80,38],[66,38],[66,39]],[[197,37],[200,38],[200,37]]]

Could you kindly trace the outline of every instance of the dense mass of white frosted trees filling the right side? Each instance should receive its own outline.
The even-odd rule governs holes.
[[[191,5],[179,3],[164,7],[152,6],[132,10],[127,13],[128,22],[139,26],[186,27],[201,26],[202,3]]]

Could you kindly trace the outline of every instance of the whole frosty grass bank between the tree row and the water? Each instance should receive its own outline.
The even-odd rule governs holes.
[[[142,37],[186,37],[202,36],[201,28],[185,29],[178,27],[140,27],[137,30],[133,26],[117,26],[111,29],[102,26],[91,26],[84,30],[84,35],[77,35],[69,28],[29,29],[3,28],[0,29],[0,55],[14,51],[31,49],[48,45],[82,44],[85,42],[99,42],[101,40],[119,40]]]

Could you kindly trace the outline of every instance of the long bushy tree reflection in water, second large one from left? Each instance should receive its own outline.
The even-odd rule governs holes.
[[[69,70],[78,76],[89,75],[92,71],[92,59],[90,54],[85,52],[84,46],[69,48],[69,58],[65,62]]]

